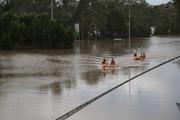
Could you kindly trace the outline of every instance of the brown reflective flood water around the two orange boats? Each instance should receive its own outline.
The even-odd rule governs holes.
[[[54,120],[100,93],[180,55],[180,37],[76,42],[70,50],[0,51],[0,120]],[[103,57],[119,67],[102,70]],[[180,59],[114,90],[68,120],[180,120]]]

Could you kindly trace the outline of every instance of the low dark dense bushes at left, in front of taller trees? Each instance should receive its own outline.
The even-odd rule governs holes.
[[[0,47],[10,48],[69,48],[74,31],[61,21],[51,21],[46,13],[14,14],[0,17]]]

